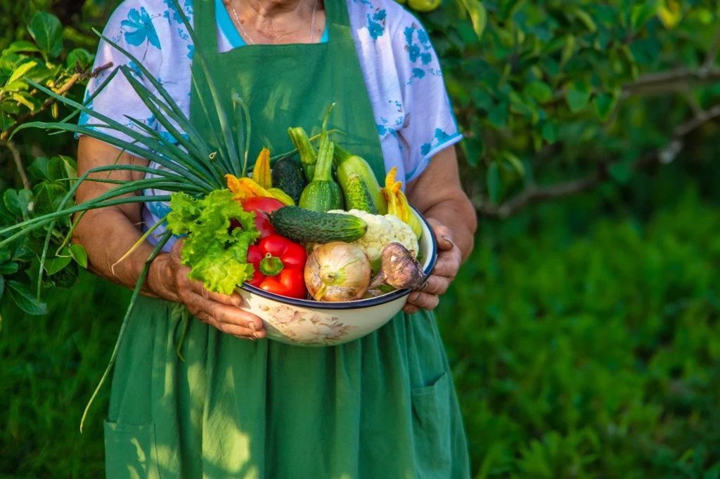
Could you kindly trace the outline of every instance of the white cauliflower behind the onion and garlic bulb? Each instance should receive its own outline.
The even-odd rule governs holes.
[[[350,211],[335,209],[328,211],[328,213],[351,214],[367,223],[367,232],[352,244],[360,247],[371,263],[380,259],[382,248],[390,245],[390,243],[400,243],[406,250],[414,252],[415,255],[420,250],[418,237],[415,236],[413,229],[403,223],[397,216],[392,214],[384,216],[369,214],[358,209],[351,209]]]

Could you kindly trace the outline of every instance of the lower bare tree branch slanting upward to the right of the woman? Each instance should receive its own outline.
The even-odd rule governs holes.
[[[631,170],[642,170],[642,168],[647,168],[649,165],[652,165],[657,161],[660,161],[661,163],[670,163],[682,149],[685,136],[690,134],[690,132],[693,132],[698,127],[701,127],[706,122],[716,118],[720,118],[720,105],[714,106],[714,108],[693,117],[690,121],[675,128],[672,140],[665,148],[649,152],[642,156],[639,160],[634,161],[634,163],[631,163],[630,165]],[[563,196],[570,196],[572,194],[580,193],[581,191],[593,188],[593,186],[598,185],[608,178],[608,166],[611,164],[613,163],[603,163],[598,170],[595,170],[587,176],[578,178],[577,180],[567,181],[565,183],[559,183],[552,186],[528,186],[522,193],[518,194],[518,196],[515,196],[513,199],[510,199],[499,206],[487,204],[487,202],[475,201],[475,208],[485,216],[505,218],[515,213],[523,206],[535,201],[562,198]]]

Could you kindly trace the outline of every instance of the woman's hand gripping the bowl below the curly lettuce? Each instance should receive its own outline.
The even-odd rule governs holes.
[[[180,264],[183,240],[175,243],[170,252],[171,277],[176,283],[177,294],[190,314],[220,331],[241,339],[257,341],[265,337],[263,321],[258,316],[239,309],[243,297],[238,293],[226,296],[211,293],[199,281],[187,277],[190,268]]]

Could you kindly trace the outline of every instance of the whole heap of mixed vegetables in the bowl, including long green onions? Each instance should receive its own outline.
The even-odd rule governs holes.
[[[194,44],[200,45],[178,0],[169,1]],[[264,149],[253,171],[248,172],[250,112],[236,93],[232,95],[234,111],[225,111],[200,47],[196,47],[193,61],[198,62],[211,93],[202,98],[203,112],[209,124],[216,123],[210,121],[215,116],[220,125],[220,129],[212,129],[210,137],[197,132],[161,81],[140,59],[96,33],[109,47],[125,55],[145,81],[138,80],[137,70],[122,65],[80,104],[55,93],[47,83],[28,79],[32,88],[70,107],[73,114],[59,122],[22,124],[13,135],[28,128],[41,128],[52,134],[81,134],[113,145],[121,152],[146,158],[161,168],[117,162],[91,168],[79,178],[68,178],[71,186],[61,201],[53,202],[53,211],[0,230],[0,247],[29,234],[45,234],[37,278],[39,301],[45,264],[54,259],[48,252],[50,240],[59,235],[57,224],[71,223],[63,244],[56,248],[62,252],[86,211],[138,202],[170,203],[171,213],[154,225],[145,225],[143,237],[119,260],[156,234],[158,227],[166,225],[135,284],[109,365],[83,414],[81,431],[87,411],[117,357],[150,263],[173,234],[184,236],[181,261],[191,268],[189,277],[202,280],[210,291],[230,294],[248,283],[279,296],[352,301],[418,286],[422,270],[415,256],[420,222],[402,193],[402,183],[395,181],[396,171],[391,170],[384,188],[380,188],[365,160],[330,140],[330,134],[336,133],[327,129],[332,107],[318,137],[308,138],[302,127],[290,128],[288,134],[297,149],[274,162],[269,150]],[[165,130],[163,133],[130,115],[126,115],[128,122],[117,122],[92,109],[95,96],[118,73],[156,117]],[[197,88],[198,79],[194,75],[192,83]],[[76,124],[73,118],[80,112],[95,119],[96,124],[93,127]],[[174,141],[168,141],[168,135]],[[145,173],[145,178],[138,181],[109,178],[109,173],[117,170]],[[76,204],[75,193],[85,181],[115,186],[94,199]],[[162,193],[143,196],[146,190]],[[187,321],[186,318],[185,325]]]

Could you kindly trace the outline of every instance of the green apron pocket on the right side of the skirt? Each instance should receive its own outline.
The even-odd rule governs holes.
[[[449,479],[451,474],[448,373],[431,386],[413,389],[413,442],[418,479]]]

